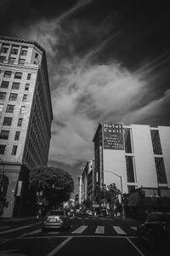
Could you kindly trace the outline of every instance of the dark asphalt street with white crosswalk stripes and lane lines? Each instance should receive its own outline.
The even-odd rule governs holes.
[[[139,242],[137,225],[129,219],[76,216],[70,230],[42,232],[40,218],[1,219],[0,255],[156,255]]]

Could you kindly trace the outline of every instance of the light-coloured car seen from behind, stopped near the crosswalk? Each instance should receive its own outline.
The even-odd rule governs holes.
[[[49,229],[69,229],[70,218],[65,210],[51,210],[42,219],[42,231]]]

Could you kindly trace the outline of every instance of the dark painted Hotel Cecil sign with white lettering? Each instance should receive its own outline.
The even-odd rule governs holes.
[[[104,148],[123,150],[122,124],[103,124]]]

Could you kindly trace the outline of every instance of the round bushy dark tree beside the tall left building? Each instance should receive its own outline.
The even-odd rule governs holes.
[[[41,192],[41,200],[48,201],[49,207],[69,200],[74,190],[74,181],[71,175],[60,167],[38,166],[33,168],[29,175],[32,189]]]

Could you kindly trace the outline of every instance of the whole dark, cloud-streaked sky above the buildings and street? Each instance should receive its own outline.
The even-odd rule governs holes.
[[[0,34],[46,49],[54,121],[48,164],[75,180],[99,122],[170,125],[168,1],[0,0]]]

